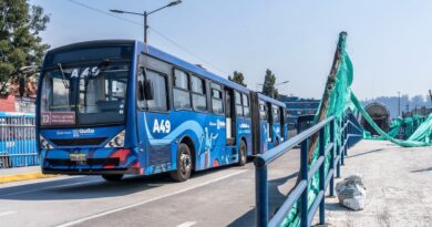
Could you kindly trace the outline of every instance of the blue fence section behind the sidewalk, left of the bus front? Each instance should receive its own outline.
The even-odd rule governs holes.
[[[34,114],[0,112],[0,168],[39,165]]]

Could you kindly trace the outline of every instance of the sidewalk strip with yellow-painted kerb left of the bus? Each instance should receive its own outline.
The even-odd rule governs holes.
[[[39,165],[29,167],[0,168],[0,184],[53,176],[55,175],[43,175]]]

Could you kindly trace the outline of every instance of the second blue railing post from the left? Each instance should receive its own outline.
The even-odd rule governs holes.
[[[308,146],[309,146],[309,138],[305,140],[301,143],[301,149],[300,149],[300,174],[301,174],[301,180],[308,182]],[[301,227],[308,227],[308,186],[306,186],[305,190],[301,193],[301,199],[300,199],[300,226]]]

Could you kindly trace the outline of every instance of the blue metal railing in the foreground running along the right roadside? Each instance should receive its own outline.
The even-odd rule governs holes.
[[[329,140],[326,138],[326,127],[329,127]],[[336,127],[336,128],[335,128]],[[335,133],[337,134],[335,135]],[[318,151],[319,156],[313,166],[308,167],[308,149],[310,137],[318,133]],[[336,140],[339,136],[339,140]],[[344,164],[344,156],[349,147],[354,145],[362,138],[362,128],[352,114],[348,114],[342,121],[338,122],[333,116],[316,124],[309,130],[304,131],[289,141],[279,146],[269,149],[265,154],[258,155],[255,158],[255,188],[256,188],[256,225],[280,226],[287,218],[289,211],[295,204],[300,199],[300,225],[310,226],[316,211],[319,209],[319,223],[325,224],[325,193],[330,186],[330,196],[333,196],[335,185],[335,168],[337,177],[340,177],[340,165]],[[329,141],[327,143],[326,141]],[[337,141],[340,145],[337,146]],[[327,144],[326,144],[327,143]],[[298,144],[300,148],[300,177],[296,187],[290,192],[287,199],[279,207],[277,213],[269,219],[269,202],[268,202],[268,165],[288,153]],[[330,155],[330,166],[326,175],[325,161]],[[308,209],[308,184],[316,173],[319,173],[319,192],[310,208]]]

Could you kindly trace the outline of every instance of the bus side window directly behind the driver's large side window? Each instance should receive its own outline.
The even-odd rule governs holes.
[[[189,95],[189,80],[188,75],[177,69],[174,69],[173,78],[173,96],[174,96],[174,109],[176,110],[188,110],[191,109],[191,95]]]

